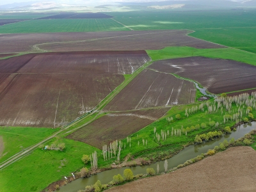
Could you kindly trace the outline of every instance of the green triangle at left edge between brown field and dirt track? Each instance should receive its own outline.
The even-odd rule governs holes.
[[[35,127],[0,127],[0,136],[4,141],[0,163],[58,130]]]

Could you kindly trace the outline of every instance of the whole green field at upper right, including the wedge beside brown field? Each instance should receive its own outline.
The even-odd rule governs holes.
[[[195,33],[190,36],[256,52],[255,10],[127,12],[111,15],[134,30],[191,29]]]

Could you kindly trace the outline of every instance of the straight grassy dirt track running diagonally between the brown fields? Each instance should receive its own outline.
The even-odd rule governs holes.
[[[76,125],[79,122],[81,122],[82,120],[84,120],[84,118],[88,118],[88,117],[94,115],[95,113],[98,113],[102,108],[104,108],[104,106],[106,106],[106,104],[108,104],[108,102],[110,102],[110,100],[112,100],[122,89],[124,89],[124,87],[127,84],[129,84],[132,81],[132,79],[134,79],[134,77],[138,76],[138,74],[140,74],[140,72],[143,71],[145,68],[147,68],[151,63],[152,63],[152,61],[150,60],[147,63],[145,63],[143,66],[138,68],[131,75],[131,77],[129,77],[129,79],[127,79],[127,81],[124,81],[118,87],[116,87],[115,90],[113,90],[113,92],[109,93],[109,95],[107,97],[105,97],[105,99],[103,99],[94,109],[92,109],[92,111],[90,111],[90,113],[86,113],[85,115],[83,115],[83,118],[79,118],[75,122],[72,122],[72,124],[62,127],[62,129],[60,131],[52,134],[52,136],[49,136],[48,138],[45,138],[44,140],[40,141],[39,143],[36,143],[35,145],[28,147],[25,151],[19,152],[19,153],[15,154],[14,156],[10,157],[9,159],[7,159],[6,161],[4,161],[3,163],[0,164],[0,170],[3,168],[6,168],[6,166],[9,166],[10,164],[14,163],[15,161],[27,156],[28,154],[33,152],[33,150],[35,150],[39,145],[45,143],[46,141],[51,140],[55,136],[57,136],[59,134],[65,134],[65,131],[67,131],[70,127],[73,127],[74,125]],[[92,120],[90,120],[89,122],[86,122],[79,127],[74,127],[72,130],[68,130],[68,132],[80,129],[81,127],[84,127],[84,125],[90,124],[90,122],[92,122],[94,119],[95,119],[95,117]]]

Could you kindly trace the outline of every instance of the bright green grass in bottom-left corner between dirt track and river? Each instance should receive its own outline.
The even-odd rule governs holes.
[[[65,139],[62,141],[66,145],[63,152],[37,148],[31,155],[1,170],[1,191],[42,191],[51,182],[70,176],[83,167],[83,154],[92,154],[96,150],[100,155],[99,149],[85,143]],[[13,176],[17,179],[15,184]]]

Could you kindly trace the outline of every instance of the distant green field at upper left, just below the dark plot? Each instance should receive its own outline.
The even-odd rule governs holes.
[[[45,19],[26,20],[0,26],[0,33],[57,33],[90,31],[127,31],[112,19]]]

